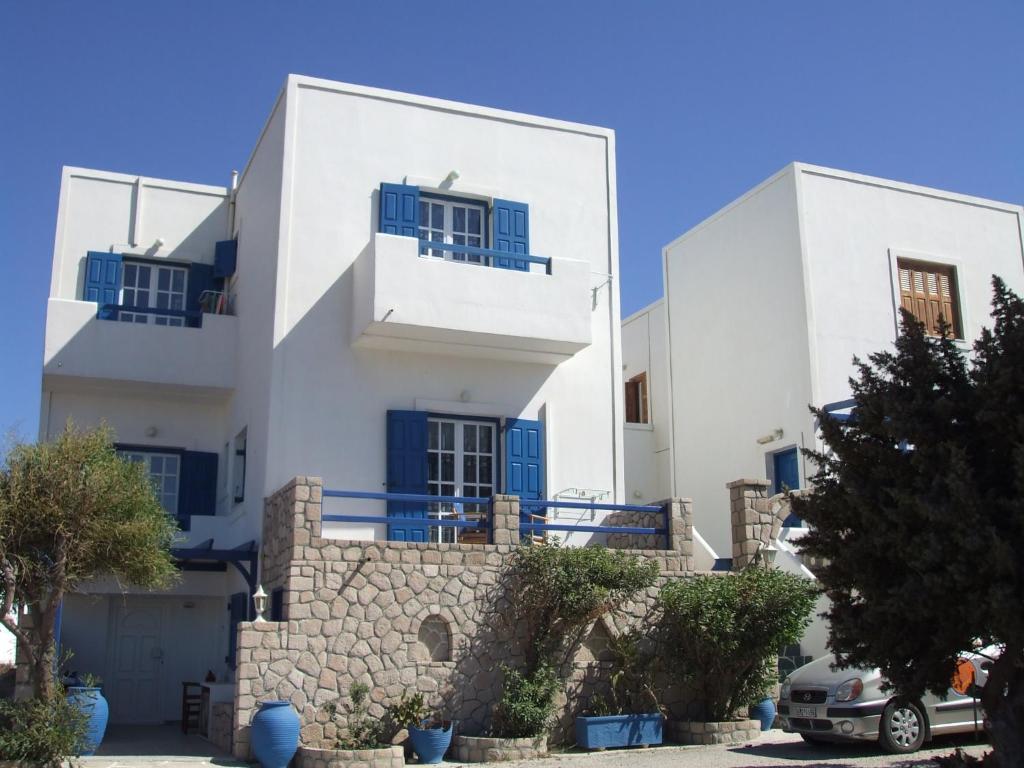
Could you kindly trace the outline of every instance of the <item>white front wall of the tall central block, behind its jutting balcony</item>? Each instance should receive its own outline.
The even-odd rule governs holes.
[[[617,288],[604,276],[614,281],[617,270],[611,132],[296,77],[287,112],[290,215],[281,233],[263,493],[296,474],[321,475],[328,487],[381,489],[386,412],[415,409],[541,419],[548,495],[585,486],[622,501]],[[373,248],[380,183],[439,186],[453,169],[460,177],[447,194],[528,204],[530,253],[552,257],[555,269],[558,259],[574,259],[595,273],[580,289],[592,341],[567,361],[352,346],[354,265]],[[453,297],[492,272],[432,266],[449,270]],[[588,289],[601,284],[592,296]]]

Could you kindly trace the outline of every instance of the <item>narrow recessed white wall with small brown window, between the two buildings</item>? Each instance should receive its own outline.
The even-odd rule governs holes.
[[[648,421],[625,424],[626,498],[630,504],[657,502],[672,496],[672,398],[666,335],[664,300],[623,321],[623,384],[647,374]]]

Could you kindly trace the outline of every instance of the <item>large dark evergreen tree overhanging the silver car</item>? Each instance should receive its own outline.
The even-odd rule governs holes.
[[[945,693],[972,644],[1002,646],[981,699],[1009,768],[1024,765],[1024,302],[998,279],[993,294],[972,360],[907,312],[894,351],[854,360],[856,408],[815,411],[827,450],[808,452],[794,511],[841,665],[915,698]]]

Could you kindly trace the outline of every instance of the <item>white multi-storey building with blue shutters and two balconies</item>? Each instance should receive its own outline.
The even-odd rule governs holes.
[[[171,593],[66,602],[112,722],[229,676],[263,498],[295,475],[624,501],[617,270],[603,128],[292,76],[233,188],[66,169],[40,438],[105,421],[193,550]]]

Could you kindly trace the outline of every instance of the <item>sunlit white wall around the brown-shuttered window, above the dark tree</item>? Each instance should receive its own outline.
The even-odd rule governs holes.
[[[956,268],[965,348],[991,327],[992,274],[1024,292],[1020,206],[827,168],[797,170],[816,404],[849,397],[853,356],[895,340],[897,258]]]

